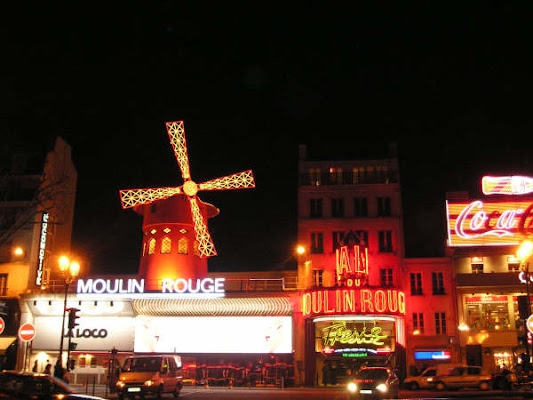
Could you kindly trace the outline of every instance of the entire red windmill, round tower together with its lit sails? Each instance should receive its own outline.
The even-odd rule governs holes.
[[[255,187],[251,170],[196,183],[191,179],[183,121],[166,123],[170,143],[183,177],[183,185],[120,191],[122,208],[143,216],[143,244],[139,277],[150,290],[162,279],[195,279],[207,276],[207,258],[216,250],[207,220],[219,210],[201,201],[201,190],[249,189]]]

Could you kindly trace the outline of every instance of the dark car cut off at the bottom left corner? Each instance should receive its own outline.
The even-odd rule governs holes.
[[[76,393],[65,382],[47,374],[23,371],[0,372],[0,399],[6,400],[104,400]]]

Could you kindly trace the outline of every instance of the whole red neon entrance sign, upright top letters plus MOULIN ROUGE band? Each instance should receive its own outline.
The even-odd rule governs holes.
[[[302,313],[327,314],[398,314],[405,315],[405,294],[394,289],[365,286],[368,279],[366,248],[343,246],[337,250],[337,281],[341,287],[311,290],[302,295]]]

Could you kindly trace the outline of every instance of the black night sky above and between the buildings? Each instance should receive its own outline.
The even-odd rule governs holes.
[[[196,182],[254,171],[256,189],[199,195],[221,210],[210,271],[294,267],[298,144],[398,143],[408,257],[444,255],[447,191],[533,176],[523,3],[131,3],[36,3],[1,35],[2,156],[72,146],[73,248],[95,274],[137,272],[142,220],[119,189],[182,184],[166,121],[185,121]]]

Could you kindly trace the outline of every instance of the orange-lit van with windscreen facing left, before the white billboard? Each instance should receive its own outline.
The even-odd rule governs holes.
[[[161,397],[163,393],[178,397],[183,386],[181,357],[166,354],[127,357],[116,386],[119,399]]]

